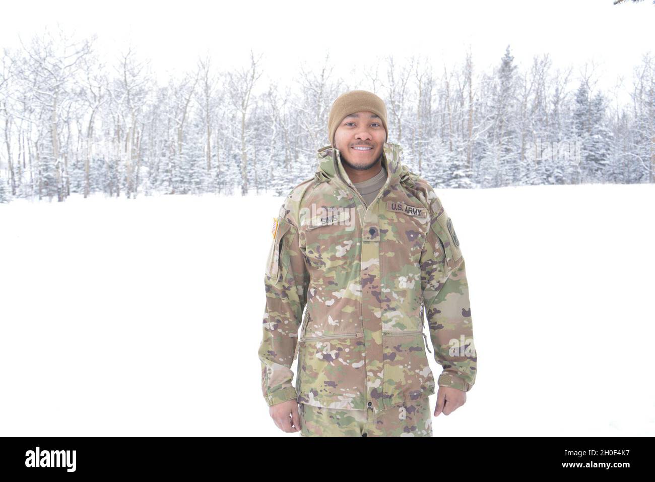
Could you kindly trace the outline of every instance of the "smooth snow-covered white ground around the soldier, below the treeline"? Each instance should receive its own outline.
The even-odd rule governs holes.
[[[655,186],[437,193],[479,359],[435,436],[655,435]],[[257,358],[282,199],[0,204],[0,435],[298,436]]]

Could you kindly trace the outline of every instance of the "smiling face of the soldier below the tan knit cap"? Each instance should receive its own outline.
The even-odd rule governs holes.
[[[365,110],[346,115],[335,131],[334,143],[343,163],[364,170],[380,159],[385,138],[380,117]]]

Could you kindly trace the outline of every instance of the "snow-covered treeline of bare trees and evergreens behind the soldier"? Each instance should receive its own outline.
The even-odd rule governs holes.
[[[284,195],[312,176],[327,115],[342,92],[386,102],[390,142],[434,187],[655,182],[655,59],[613,94],[592,66],[519,68],[510,47],[493,71],[385,58],[338,77],[329,56],[293,85],[263,85],[261,56],[240,70],[198,59],[165,85],[133,49],[109,61],[94,38],[46,31],[4,49],[0,201],[102,192]],[[620,102],[620,92],[629,102]],[[625,96],[627,98],[627,96]]]

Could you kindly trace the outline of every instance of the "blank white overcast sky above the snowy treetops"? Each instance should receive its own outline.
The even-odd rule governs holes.
[[[444,62],[460,64],[468,45],[477,71],[486,70],[510,44],[523,65],[544,52],[555,67],[593,60],[603,74],[599,87],[608,90],[617,75],[625,75],[629,86],[641,55],[655,53],[651,0],[616,6],[612,0],[50,0],[5,4],[0,15],[0,47],[18,47],[18,34],[28,39],[59,23],[79,35],[97,33],[99,47],[111,54],[132,41],[153,60],[159,78],[167,70],[193,68],[205,52],[223,68],[245,65],[252,48],[263,54],[260,87],[267,77],[290,82],[301,62],[318,66],[328,49],[335,72],[347,76],[387,54],[426,55],[441,70]]]

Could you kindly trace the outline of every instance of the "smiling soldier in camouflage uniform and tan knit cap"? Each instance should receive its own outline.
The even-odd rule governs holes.
[[[291,190],[271,230],[263,395],[284,432],[431,437],[435,385],[434,415],[448,415],[476,379],[460,242],[433,188],[387,142],[381,98],[339,96],[328,134],[316,174]],[[436,383],[424,311],[443,367]]]

